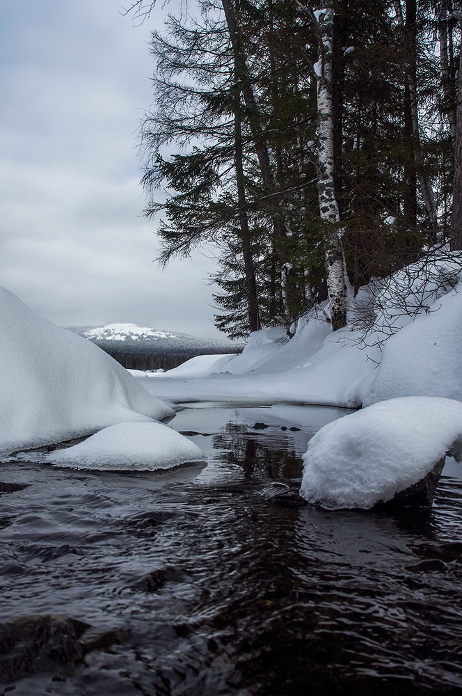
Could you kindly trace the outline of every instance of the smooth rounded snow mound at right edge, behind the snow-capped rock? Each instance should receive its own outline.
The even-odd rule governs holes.
[[[377,377],[363,404],[401,396],[462,401],[462,292],[453,290],[383,346]]]

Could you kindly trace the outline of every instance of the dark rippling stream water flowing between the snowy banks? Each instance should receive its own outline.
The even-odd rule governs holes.
[[[341,413],[182,411],[171,425],[198,433],[202,470],[1,464],[0,480],[31,485],[0,496],[0,618],[119,629],[73,674],[3,693],[462,693],[461,480],[443,477],[431,511],[395,516],[264,495],[298,488],[308,439]]]

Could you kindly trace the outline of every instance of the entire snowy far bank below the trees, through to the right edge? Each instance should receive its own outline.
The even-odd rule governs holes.
[[[365,294],[367,288],[358,301]],[[351,325],[333,333],[328,322],[310,317],[298,322],[289,341],[283,329],[264,329],[251,335],[242,354],[200,356],[163,375],[138,373],[138,379],[175,402],[360,407],[415,395],[462,401],[462,287],[442,294],[425,286],[418,296],[425,310],[415,317],[386,308],[383,325],[392,321],[396,333],[388,337],[387,326],[375,328],[366,337],[369,347]]]

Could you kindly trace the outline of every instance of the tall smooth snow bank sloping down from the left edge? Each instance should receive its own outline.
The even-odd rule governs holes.
[[[104,351],[3,287],[0,322],[0,452],[173,415]]]

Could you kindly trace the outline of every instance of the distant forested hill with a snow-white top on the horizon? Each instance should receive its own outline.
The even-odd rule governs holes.
[[[65,326],[132,370],[171,370],[197,355],[239,353],[243,345],[186,333],[157,331],[136,324]]]

